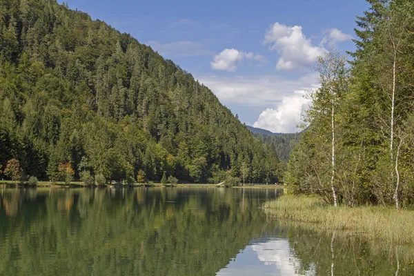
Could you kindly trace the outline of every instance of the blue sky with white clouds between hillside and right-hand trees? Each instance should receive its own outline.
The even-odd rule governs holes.
[[[364,0],[68,0],[150,45],[206,84],[248,125],[295,132],[317,87],[318,55],[353,50]],[[62,1],[59,1],[62,3]]]

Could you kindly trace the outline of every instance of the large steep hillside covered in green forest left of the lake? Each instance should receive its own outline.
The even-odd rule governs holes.
[[[21,178],[277,181],[274,148],[170,60],[55,0],[0,1],[0,164]],[[4,177],[4,175],[2,175]]]

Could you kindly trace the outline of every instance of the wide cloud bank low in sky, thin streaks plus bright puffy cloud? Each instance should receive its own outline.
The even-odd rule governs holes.
[[[264,110],[259,119],[252,118],[256,121],[253,126],[273,132],[297,132],[297,124],[302,123],[301,113],[311,103],[302,96],[305,91],[318,87],[317,77],[317,72],[312,72],[298,79],[208,76],[199,81],[208,86],[221,103]]]

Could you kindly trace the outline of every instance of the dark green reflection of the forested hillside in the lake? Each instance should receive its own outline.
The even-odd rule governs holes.
[[[0,275],[215,275],[268,225],[264,190],[17,191],[15,217],[0,212]]]

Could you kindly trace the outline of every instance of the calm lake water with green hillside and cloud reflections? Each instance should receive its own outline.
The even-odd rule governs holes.
[[[0,275],[414,275],[411,246],[266,217],[280,193],[3,188]]]

